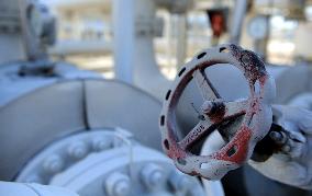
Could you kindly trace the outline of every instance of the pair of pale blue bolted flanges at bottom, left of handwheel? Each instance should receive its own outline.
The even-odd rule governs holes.
[[[194,178],[132,137],[121,128],[97,129],[55,141],[16,181],[66,187],[79,195],[204,195]]]

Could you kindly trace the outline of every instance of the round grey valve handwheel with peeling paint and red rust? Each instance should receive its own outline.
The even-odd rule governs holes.
[[[222,100],[204,72],[205,68],[220,64],[233,65],[244,73],[249,87],[249,97]],[[185,138],[179,139],[175,109],[191,80],[194,80],[204,100],[201,107],[202,118]],[[166,94],[160,114],[163,148],[183,173],[220,180],[229,171],[246,162],[257,141],[269,131],[272,120],[270,104],[274,97],[275,82],[256,54],[233,44],[205,49],[180,69]],[[229,136],[227,145],[208,155],[190,152],[190,147],[200,138],[207,137],[207,132],[219,129],[224,122],[229,123],[238,116],[242,118],[238,128],[227,125],[226,129],[234,132]]]

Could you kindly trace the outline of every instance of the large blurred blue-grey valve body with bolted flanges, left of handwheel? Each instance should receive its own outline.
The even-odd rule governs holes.
[[[160,102],[52,60],[54,20],[19,5],[26,59],[0,67],[0,195],[204,195],[160,152]]]

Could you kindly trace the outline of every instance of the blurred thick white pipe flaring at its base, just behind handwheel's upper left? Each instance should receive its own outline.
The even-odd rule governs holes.
[[[156,8],[153,0],[135,0],[135,19],[155,19]],[[153,34],[136,34],[134,55],[134,84],[159,100],[164,99],[170,81],[159,71],[155,59]]]

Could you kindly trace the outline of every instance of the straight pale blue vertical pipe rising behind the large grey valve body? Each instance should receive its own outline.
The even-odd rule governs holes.
[[[133,83],[135,0],[113,0],[113,54],[115,78]]]

